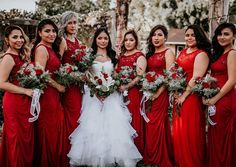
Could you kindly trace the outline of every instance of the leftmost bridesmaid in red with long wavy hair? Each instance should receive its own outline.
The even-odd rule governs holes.
[[[30,60],[28,38],[15,25],[5,29],[8,46],[0,64],[0,89],[3,96],[4,126],[0,146],[1,167],[31,167],[33,162],[34,127],[30,115],[32,89],[19,86],[16,74]]]

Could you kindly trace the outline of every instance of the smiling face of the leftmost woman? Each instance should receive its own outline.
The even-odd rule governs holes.
[[[22,32],[16,29],[12,30],[8,38],[5,38],[5,40],[13,50],[20,50],[25,42]]]

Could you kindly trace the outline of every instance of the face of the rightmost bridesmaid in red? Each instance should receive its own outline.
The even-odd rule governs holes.
[[[222,47],[227,47],[233,45],[235,38],[236,37],[230,28],[224,28],[217,36],[217,41]]]

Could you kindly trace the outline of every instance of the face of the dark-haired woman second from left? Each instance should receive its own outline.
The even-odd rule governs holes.
[[[42,30],[39,31],[39,36],[43,42],[52,44],[57,37],[57,33],[52,25],[46,24],[43,26]]]

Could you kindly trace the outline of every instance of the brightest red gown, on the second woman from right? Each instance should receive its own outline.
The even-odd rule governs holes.
[[[186,53],[183,49],[176,62],[184,69],[187,82],[193,76],[195,57],[203,52],[196,50]],[[206,166],[206,132],[205,112],[201,97],[190,94],[180,108],[180,116],[173,112],[173,142],[174,156],[177,166],[180,167],[204,167]]]

